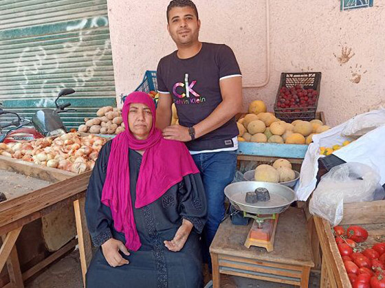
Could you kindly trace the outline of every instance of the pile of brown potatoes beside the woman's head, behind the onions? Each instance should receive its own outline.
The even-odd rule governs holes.
[[[95,134],[119,134],[124,131],[122,109],[111,106],[102,107],[96,112],[97,118],[85,118],[85,124],[78,128],[79,132]]]

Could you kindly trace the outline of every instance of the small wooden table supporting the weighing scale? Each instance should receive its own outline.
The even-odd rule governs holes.
[[[308,287],[311,256],[305,212],[290,207],[280,214],[276,228],[274,251],[244,246],[248,226],[221,223],[210,245],[213,287],[220,287],[220,275],[229,274],[278,283]]]

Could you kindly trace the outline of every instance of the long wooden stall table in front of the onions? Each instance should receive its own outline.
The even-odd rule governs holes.
[[[77,243],[79,245],[83,283],[85,283],[87,264],[91,261],[92,257],[91,239],[89,238],[84,214],[85,190],[87,190],[91,171],[65,179],[66,176],[63,177],[63,173],[59,173],[59,170],[54,168],[43,168],[15,159],[12,159],[12,164],[15,166],[11,167],[10,161],[11,159],[0,156],[0,164],[4,164],[4,167],[10,169],[18,168],[18,172],[24,172],[25,175],[31,176],[36,173],[40,173],[42,176],[46,173],[47,179],[54,176],[56,179],[63,179],[63,181],[58,181],[50,186],[0,203],[0,235],[3,239],[0,248],[0,271],[6,263],[8,274],[10,275],[10,283],[5,285],[5,287],[24,287],[24,280],[52,263],[56,258],[69,252]],[[70,241],[38,265],[21,273],[15,243],[23,226],[72,203],[75,210],[78,239]]]

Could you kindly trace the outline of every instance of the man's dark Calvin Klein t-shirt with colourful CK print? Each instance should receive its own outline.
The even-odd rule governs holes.
[[[223,44],[202,43],[199,53],[191,58],[180,59],[177,51],[162,58],[157,67],[157,88],[159,93],[171,94],[179,124],[190,127],[207,118],[222,102],[219,81],[232,76],[241,76],[232,49]],[[232,118],[186,145],[190,151],[231,148],[232,138],[238,133]]]

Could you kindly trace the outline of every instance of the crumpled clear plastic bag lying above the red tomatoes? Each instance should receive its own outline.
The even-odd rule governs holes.
[[[344,216],[344,203],[373,201],[376,191],[384,189],[380,186],[380,175],[373,168],[358,162],[341,164],[321,178],[309,211],[336,226]]]

